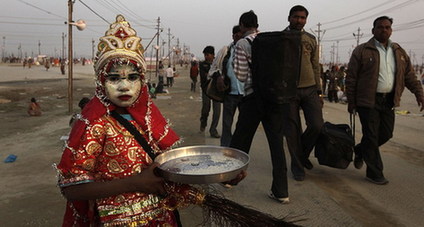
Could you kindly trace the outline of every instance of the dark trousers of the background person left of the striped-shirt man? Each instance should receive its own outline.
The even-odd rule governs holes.
[[[211,134],[217,134],[218,131],[216,130],[216,127],[218,126],[219,115],[221,115],[221,103],[211,100],[211,98],[209,98],[204,91],[202,91],[202,112],[200,116],[200,126],[204,128],[207,126],[209,112],[211,110],[211,103],[213,113],[209,132]]]

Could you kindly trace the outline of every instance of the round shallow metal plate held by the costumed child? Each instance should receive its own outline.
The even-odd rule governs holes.
[[[157,173],[185,184],[211,184],[234,179],[249,164],[249,155],[229,147],[189,146],[172,149],[155,158]]]

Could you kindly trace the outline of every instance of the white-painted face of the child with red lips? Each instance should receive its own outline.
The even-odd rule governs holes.
[[[140,95],[140,73],[132,65],[117,65],[106,76],[105,91],[109,100],[119,106],[131,106]]]

